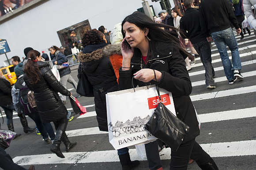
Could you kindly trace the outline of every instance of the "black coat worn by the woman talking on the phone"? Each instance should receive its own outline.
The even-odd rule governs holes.
[[[185,66],[184,58],[171,43],[154,42],[151,40],[149,60],[147,64],[141,63],[141,52],[135,49],[131,60],[131,69],[119,70],[119,87],[121,90],[132,88],[132,76],[135,72],[144,68],[155,69],[162,72],[159,87],[172,92],[176,115],[190,127],[190,131],[183,142],[190,141],[200,134],[196,112],[189,97],[192,85]],[[145,86],[145,83],[135,80],[135,87]],[[155,84],[151,81],[150,84]]]

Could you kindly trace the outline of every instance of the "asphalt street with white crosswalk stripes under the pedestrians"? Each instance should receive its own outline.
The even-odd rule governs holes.
[[[202,65],[198,65],[201,61],[196,60],[196,64],[189,71],[191,81],[195,83],[192,98],[198,94],[218,92],[215,98],[208,98],[210,94],[207,94],[200,100],[193,101],[202,120],[200,136],[196,137],[196,141],[213,157],[220,170],[256,170],[256,108],[254,108],[256,107],[256,39],[253,34],[251,36],[246,34],[244,40],[240,40],[238,36],[237,41],[243,63],[242,74],[247,75],[243,81],[229,85],[225,77],[221,78],[225,76],[222,68],[215,71],[217,88],[208,90],[205,85],[196,84],[204,81],[204,74],[199,72],[204,70]],[[215,56],[212,56],[212,61],[216,69],[222,67],[222,62],[218,60],[220,56],[215,49],[216,47],[213,46],[212,54]],[[78,81],[76,75],[77,70],[73,70],[72,76]],[[68,88],[73,87],[68,84]],[[75,90],[71,91],[75,94]],[[94,98],[81,97],[78,100],[83,106],[94,104]],[[71,108],[69,101],[66,107]],[[87,107],[87,112],[93,111],[95,111],[94,106]],[[58,159],[54,156],[49,150],[50,145],[45,145],[41,136],[34,132],[24,134],[19,119],[14,119],[14,127],[22,136],[13,140],[6,151],[15,162],[26,168],[30,164],[35,164],[36,170],[120,170],[117,152],[113,152],[114,148],[109,143],[108,134],[85,133],[87,128],[98,126],[96,116],[80,119],[77,117],[75,116],[74,120],[68,123],[67,130],[82,130],[70,137],[70,141],[76,141],[78,145],[72,149],[67,159]],[[34,122],[30,118],[27,119],[29,126],[34,127]],[[2,127],[7,128],[6,121]],[[131,157],[135,158],[136,152],[133,150],[135,147],[129,148],[131,148]],[[64,151],[64,145],[61,145],[61,150]],[[166,150],[160,152],[161,156],[166,154],[169,154]],[[38,157],[36,161],[35,157]],[[97,160],[101,161],[97,162]],[[164,170],[169,169],[169,159],[162,160],[162,164]],[[148,170],[147,161],[141,161],[136,170]],[[192,163],[188,166],[188,170],[200,170],[200,168],[196,163]]]

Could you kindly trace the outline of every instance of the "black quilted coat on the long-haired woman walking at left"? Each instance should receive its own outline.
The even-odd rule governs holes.
[[[53,75],[49,64],[43,61],[37,61],[40,72],[40,80],[36,84],[30,83],[30,77],[24,75],[24,80],[30,90],[34,91],[37,109],[43,122],[55,122],[67,116],[68,111],[62,103],[58,92],[65,96],[71,95],[70,91],[65,89]]]

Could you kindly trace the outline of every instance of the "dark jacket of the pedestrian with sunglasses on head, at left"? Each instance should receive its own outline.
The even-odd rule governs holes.
[[[53,60],[53,64],[54,64],[55,61],[57,61],[57,65],[61,65],[64,62],[68,62],[68,58],[64,54],[62,54],[60,51],[56,51],[52,55],[52,57],[53,57],[53,59],[52,59]],[[60,72],[60,77],[62,77],[62,76],[65,76],[67,74],[70,74],[71,70],[70,70],[70,67],[68,66],[68,67],[66,67],[64,69],[59,70],[59,72]]]

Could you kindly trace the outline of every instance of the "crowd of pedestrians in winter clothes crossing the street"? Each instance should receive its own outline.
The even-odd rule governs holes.
[[[135,86],[158,83],[159,87],[172,93],[177,117],[190,127],[178,150],[170,153],[170,170],[186,170],[191,160],[202,170],[218,170],[215,161],[196,142],[200,129],[189,97],[192,83],[188,71],[192,68],[191,64],[195,63],[195,57],[199,56],[205,69],[206,87],[217,87],[211,63],[211,42],[215,42],[228,83],[243,80],[232,27],[241,35],[241,39],[246,30],[250,34],[248,28],[242,28],[246,15],[255,31],[256,18],[252,7],[255,7],[256,2],[244,0],[242,3],[239,0],[234,4],[233,0],[202,0],[199,6],[195,6],[193,0],[183,0],[183,5],[186,9],[184,14],[181,14],[179,7],[174,7],[171,14],[166,10],[160,11],[158,17],[154,16],[154,21],[143,13],[134,12],[115,25],[110,35],[103,25],[98,30],[89,30],[83,35],[81,51],[78,44],[73,43],[72,53],[78,54],[78,74],[86,77],[87,81],[83,84],[90,87],[88,97],[94,96],[99,130],[108,131],[105,94],[132,88],[133,76]],[[232,63],[226,46],[231,51]],[[11,58],[17,76],[12,88],[0,75],[0,98],[4,99],[0,100],[0,106],[7,116],[8,129],[14,131],[12,112],[15,110],[24,132],[33,132],[35,128],[27,125],[25,115],[29,116],[45,143],[53,144],[50,150],[60,158],[64,158],[60,150],[61,142],[67,152],[76,145],[76,142],[69,141],[65,133],[70,115],[64,104],[66,96],[72,95],[67,90],[67,82],[72,83],[75,89],[78,84],[71,76],[64,50],[64,47],[49,48],[53,64],[61,66],[60,82],[51,72],[49,64],[42,61],[42,58],[48,61],[49,57],[44,52],[41,56],[31,47],[24,49],[26,58],[23,62],[18,56]],[[29,100],[26,97],[29,91],[34,93],[36,106],[28,105],[27,110],[24,107],[27,102],[23,101]],[[53,122],[56,134],[50,122]],[[162,170],[158,145],[158,141],[145,144],[150,170]],[[118,149],[117,154],[123,170],[131,170],[139,165],[138,160],[130,159],[128,148]]]

